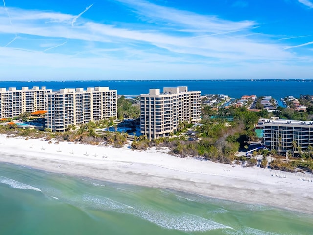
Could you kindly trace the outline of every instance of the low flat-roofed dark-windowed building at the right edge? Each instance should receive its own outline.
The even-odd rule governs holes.
[[[313,146],[313,121],[266,119],[263,132],[264,145],[269,149],[298,152]]]

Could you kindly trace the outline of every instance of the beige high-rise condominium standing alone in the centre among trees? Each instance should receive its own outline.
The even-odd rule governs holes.
[[[200,91],[187,87],[150,89],[140,95],[140,130],[150,140],[169,136],[179,128],[179,123],[200,121]]]

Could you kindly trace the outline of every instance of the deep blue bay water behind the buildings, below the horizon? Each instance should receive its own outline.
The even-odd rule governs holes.
[[[276,99],[287,95],[313,94],[313,80],[155,80],[155,81],[35,81],[0,82],[0,87],[46,86],[47,89],[107,86],[116,89],[117,94],[139,95],[149,93],[150,88],[188,86],[190,91],[201,94],[226,94],[232,98],[242,95],[271,95]]]

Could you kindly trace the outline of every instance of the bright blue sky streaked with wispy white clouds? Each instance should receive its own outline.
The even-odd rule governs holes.
[[[0,0],[0,81],[313,79],[313,0]]]

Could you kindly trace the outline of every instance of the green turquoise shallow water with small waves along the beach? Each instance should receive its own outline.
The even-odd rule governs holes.
[[[0,234],[312,235],[313,216],[1,163]]]

